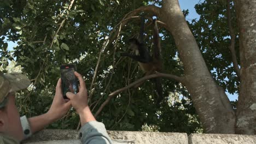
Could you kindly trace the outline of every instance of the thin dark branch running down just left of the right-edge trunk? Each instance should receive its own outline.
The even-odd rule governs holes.
[[[236,75],[238,79],[240,79],[240,68],[238,67],[238,62],[237,62],[237,57],[236,57],[236,51],[235,51],[235,33],[234,29],[232,27],[232,16],[231,16],[231,8],[230,8],[230,0],[228,0],[228,8],[227,8],[227,13],[228,13],[228,26],[229,26],[229,33],[230,33],[230,38],[231,38],[231,44],[229,46],[229,49],[231,51],[232,55],[232,62],[233,62],[233,67],[236,71]]]

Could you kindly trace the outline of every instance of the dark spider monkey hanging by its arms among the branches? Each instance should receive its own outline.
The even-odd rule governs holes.
[[[162,70],[162,58],[161,58],[161,45],[159,40],[159,31],[158,25],[156,23],[156,19],[153,20],[154,23],[154,34],[153,34],[153,44],[154,44],[154,52],[153,56],[150,56],[148,49],[144,46],[144,17],[141,17],[141,27],[139,32],[139,38],[131,38],[129,40],[130,46],[129,49],[135,50],[135,55],[131,53],[121,53],[121,56],[127,56],[138,62],[139,67],[144,72],[145,76],[153,74],[155,71]],[[158,98],[156,99],[156,104],[159,106],[162,97],[162,79],[161,77],[157,77],[153,79],[155,83],[155,89],[158,94]],[[139,83],[139,87],[142,83]]]

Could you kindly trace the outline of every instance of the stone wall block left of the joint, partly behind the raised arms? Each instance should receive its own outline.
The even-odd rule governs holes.
[[[176,144],[188,144],[188,136],[185,133],[153,133],[153,132],[141,132],[141,131],[108,131],[111,139],[115,140],[115,143],[176,143]],[[79,135],[76,130],[52,130],[45,129],[34,134],[26,142],[46,144],[50,143],[66,142],[74,143],[78,140]],[[62,141],[56,141],[62,140]],[[66,141],[63,141],[66,140]],[[126,140],[126,141],[122,141]],[[47,143],[47,144],[48,144]],[[66,144],[65,143],[65,144]]]

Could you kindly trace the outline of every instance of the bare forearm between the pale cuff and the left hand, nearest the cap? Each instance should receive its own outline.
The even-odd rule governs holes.
[[[43,115],[28,118],[28,122],[30,123],[30,129],[32,134],[36,133],[39,130],[42,130],[47,125],[53,123],[55,119],[49,116],[49,113],[44,113]]]

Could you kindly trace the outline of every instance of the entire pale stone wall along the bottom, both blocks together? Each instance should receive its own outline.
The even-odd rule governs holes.
[[[256,135],[223,135],[157,133],[142,131],[108,131],[114,143],[175,143],[175,144],[256,144]],[[42,130],[25,141],[27,144],[80,144],[78,131]]]

